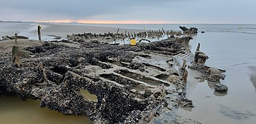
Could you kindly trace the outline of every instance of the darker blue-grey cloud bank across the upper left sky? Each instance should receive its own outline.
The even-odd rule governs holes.
[[[131,6],[155,6],[159,2],[168,2],[166,0],[160,0],[154,2],[152,0],[1,0],[3,7],[17,10],[27,10],[28,12],[39,12],[48,14],[64,14],[70,18],[85,18],[97,14],[113,14],[120,13],[122,11],[129,10]]]

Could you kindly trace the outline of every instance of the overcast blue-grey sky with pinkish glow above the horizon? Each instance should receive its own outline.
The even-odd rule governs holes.
[[[256,23],[256,0],[0,0],[0,20]]]

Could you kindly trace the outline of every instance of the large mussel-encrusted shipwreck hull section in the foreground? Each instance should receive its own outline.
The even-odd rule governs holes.
[[[46,42],[23,49],[31,57],[21,58],[20,68],[10,63],[11,53],[1,56],[0,90],[23,100],[40,99],[40,107],[88,116],[95,123],[147,123],[160,107],[168,106],[166,90],[179,96],[169,106],[186,103],[186,66],[176,70],[173,56],[188,53],[184,43],[190,39],[132,47],[81,42],[75,48]],[[97,101],[84,98],[80,89],[95,94]]]

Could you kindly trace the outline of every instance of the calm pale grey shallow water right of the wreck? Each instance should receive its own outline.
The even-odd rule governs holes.
[[[256,94],[250,80],[250,74],[255,72],[249,67],[256,65],[256,34],[253,33],[256,30],[244,33],[248,32],[247,28],[242,30],[237,26],[233,25],[232,32],[208,30],[206,34],[199,33],[190,42],[192,52],[197,43],[201,43],[201,51],[210,57],[206,65],[226,70],[226,79],[221,83],[228,86],[228,92],[215,92],[212,82],[188,82],[187,97],[193,100],[195,107],[189,111],[179,109],[184,116],[201,123],[255,123]]]

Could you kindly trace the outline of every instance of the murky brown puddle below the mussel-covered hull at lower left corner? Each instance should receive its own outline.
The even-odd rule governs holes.
[[[21,101],[18,96],[0,96],[0,123],[4,124],[89,124],[85,116],[65,116],[57,111],[39,107],[39,100]]]

